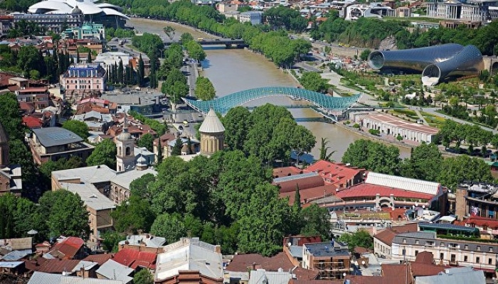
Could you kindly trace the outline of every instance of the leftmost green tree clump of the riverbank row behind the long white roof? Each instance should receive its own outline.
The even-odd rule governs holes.
[[[366,139],[349,144],[342,156],[342,163],[365,168],[376,173],[394,175],[399,168],[399,149]]]

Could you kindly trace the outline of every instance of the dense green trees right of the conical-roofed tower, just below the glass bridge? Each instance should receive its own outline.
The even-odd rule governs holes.
[[[304,126],[297,125],[284,107],[265,104],[249,112],[235,107],[223,117],[226,143],[233,150],[254,155],[264,163],[288,160],[291,151],[311,151],[316,139]]]

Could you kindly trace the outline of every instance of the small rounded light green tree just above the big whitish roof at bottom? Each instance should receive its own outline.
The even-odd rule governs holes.
[[[156,236],[163,236],[168,244],[186,236],[185,225],[179,214],[159,215],[152,224],[150,232]]]

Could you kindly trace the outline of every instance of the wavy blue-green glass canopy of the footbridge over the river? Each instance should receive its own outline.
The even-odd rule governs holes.
[[[355,102],[358,102],[360,94],[355,94],[351,97],[331,97],[327,94],[294,87],[261,87],[235,92],[211,101],[196,101],[194,99],[186,98],[182,99],[186,104],[202,114],[207,114],[209,109],[214,109],[214,111],[225,115],[233,107],[241,106],[255,99],[275,96],[302,99],[304,101],[311,102],[316,107],[323,109],[325,112],[342,112],[349,109],[349,107],[351,107]]]

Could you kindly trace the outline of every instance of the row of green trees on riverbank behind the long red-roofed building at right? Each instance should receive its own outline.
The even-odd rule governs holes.
[[[452,134],[442,133],[441,135],[446,137]],[[484,163],[484,160],[471,158],[468,155],[443,158],[438,146],[433,143],[422,143],[413,148],[410,158],[400,160],[398,157],[399,149],[395,146],[360,139],[349,145],[342,162],[377,173],[439,182],[449,188],[455,188],[459,182],[464,180],[482,182],[493,180],[489,166]]]

